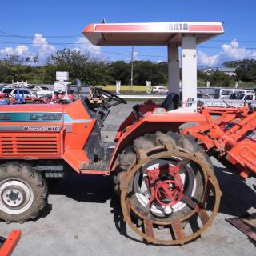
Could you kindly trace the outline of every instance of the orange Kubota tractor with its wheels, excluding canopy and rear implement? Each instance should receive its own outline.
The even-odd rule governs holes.
[[[167,113],[174,100],[162,107],[148,102],[135,106],[115,142],[106,143],[102,123],[111,106],[126,102],[106,90],[98,95],[97,110],[88,98],[1,107],[0,218],[35,218],[46,205],[47,178],[61,178],[70,166],[81,175],[112,175],[125,221],[147,242],[198,237],[213,222],[221,192],[204,150],[178,130],[185,122],[206,125],[206,117]]]

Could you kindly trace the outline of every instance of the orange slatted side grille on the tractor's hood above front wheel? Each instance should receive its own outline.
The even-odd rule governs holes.
[[[0,137],[1,154],[59,154],[58,135]]]

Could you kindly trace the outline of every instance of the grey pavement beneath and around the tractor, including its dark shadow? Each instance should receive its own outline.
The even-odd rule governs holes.
[[[102,128],[102,137],[113,141],[122,120],[138,102],[115,106]],[[222,190],[217,217],[201,238],[184,246],[152,246],[136,240],[122,222],[118,198],[109,177],[70,173],[50,190],[49,203],[34,221],[23,224],[0,222],[0,235],[22,230],[14,256],[60,255],[246,255],[256,244],[225,221],[256,212],[255,179],[242,181],[218,160],[211,158]]]

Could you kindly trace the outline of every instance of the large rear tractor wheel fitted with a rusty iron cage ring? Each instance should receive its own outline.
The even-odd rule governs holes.
[[[217,214],[221,193],[210,158],[194,138],[171,131],[167,134],[162,132],[146,134],[136,138],[132,146],[123,150],[118,162],[114,189],[121,194],[124,218],[147,242],[165,245],[182,244],[194,239],[210,226]],[[179,169],[179,177],[171,173],[171,170],[176,170],[175,168]],[[150,172],[152,174],[156,171],[158,176],[152,190],[152,183],[149,182]],[[180,181],[179,184],[177,180]],[[213,183],[214,191],[208,193],[209,181]],[[171,192],[176,198],[172,195],[169,198],[167,195],[164,197],[163,187],[169,189],[176,187],[176,191]],[[169,191],[169,194],[171,193]],[[211,194],[214,194],[214,210],[208,218],[206,198]],[[194,222],[197,216],[200,218],[203,214],[205,219],[196,224],[201,225],[199,230],[193,231],[194,227],[191,224],[192,234],[185,235],[186,224]],[[174,223],[179,226],[179,235],[176,234],[175,237],[177,230],[172,230],[172,239],[154,237],[154,227],[163,229],[167,226],[170,230]]]

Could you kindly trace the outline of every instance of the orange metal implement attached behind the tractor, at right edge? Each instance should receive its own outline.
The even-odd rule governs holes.
[[[256,112],[242,108],[201,107],[206,125],[189,127],[182,134],[198,139],[205,150],[214,149],[220,158],[238,169],[242,178],[256,173]],[[221,114],[215,121],[210,114]]]

